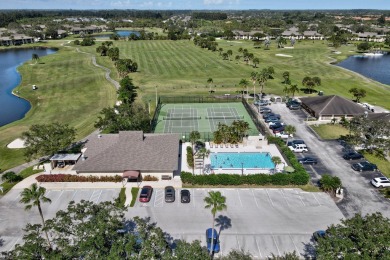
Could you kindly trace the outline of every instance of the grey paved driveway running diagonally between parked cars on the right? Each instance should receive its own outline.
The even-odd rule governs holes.
[[[390,201],[385,199],[377,189],[371,186],[369,180],[377,177],[378,174],[355,172],[350,164],[342,157],[342,146],[336,141],[319,140],[312,130],[305,124],[306,115],[302,110],[290,111],[285,104],[272,104],[272,111],[281,114],[282,120],[288,125],[296,128],[296,138],[303,139],[312,153],[320,160],[319,172],[316,166],[312,168],[314,183],[320,175],[328,173],[338,176],[343,184],[344,199],[337,205],[345,217],[352,217],[356,213],[363,215],[374,212],[381,212],[384,216],[390,217]],[[299,155],[302,156],[302,155]]]

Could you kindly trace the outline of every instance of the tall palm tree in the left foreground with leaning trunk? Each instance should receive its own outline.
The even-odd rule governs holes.
[[[20,202],[27,204],[25,206],[25,210],[30,210],[33,206],[38,207],[39,215],[41,216],[42,220],[42,227],[45,227],[45,219],[43,218],[42,208],[41,208],[41,202],[45,203],[51,203],[51,200],[47,197],[45,197],[46,189],[44,187],[38,187],[36,183],[33,183],[30,188],[25,188],[21,193],[21,199]],[[49,244],[49,247],[51,248],[51,243],[49,240],[49,235],[47,234],[47,231],[45,230],[45,235],[47,239],[47,243]]]

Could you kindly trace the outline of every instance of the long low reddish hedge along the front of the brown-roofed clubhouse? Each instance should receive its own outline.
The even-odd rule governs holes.
[[[78,176],[73,174],[40,175],[35,178],[38,182],[122,182],[122,177],[116,176]]]

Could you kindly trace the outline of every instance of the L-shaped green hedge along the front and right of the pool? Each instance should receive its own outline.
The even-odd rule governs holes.
[[[298,162],[294,153],[285,145],[281,138],[269,137],[269,143],[277,144],[287,160],[290,162],[295,172],[276,173],[276,174],[210,174],[210,175],[192,175],[189,172],[181,173],[181,180],[185,184],[192,185],[306,185],[309,182],[310,176],[305,168]]]

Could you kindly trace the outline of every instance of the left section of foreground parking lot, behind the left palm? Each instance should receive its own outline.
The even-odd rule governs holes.
[[[113,201],[119,195],[119,189],[77,189],[77,190],[47,190],[46,197],[51,203],[43,203],[42,211],[45,219],[53,218],[59,210],[67,208],[72,200],[80,202],[89,200],[95,203]],[[0,252],[9,251],[22,240],[22,229],[27,223],[41,223],[38,209],[32,207],[24,210],[20,203],[21,190],[11,190],[0,200]]]

